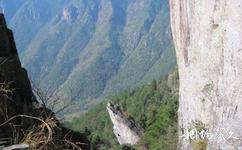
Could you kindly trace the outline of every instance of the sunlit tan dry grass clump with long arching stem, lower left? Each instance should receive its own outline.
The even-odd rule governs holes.
[[[28,118],[33,119],[36,121],[39,121],[40,123],[36,123],[28,130],[24,131],[21,130],[21,133],[14,133],[13,135],[22,134],[23,138],[19,139],[17,144],[25,143],[30,145],[30,147],[33,150],[49,150],[49,149],[72,149],[72,150],[81,150],[81,148],[78,146],[82,143],[74,143],[71,140],[68,140],[66,137],[63,139],[55,139],[55,129],[58,128],[57,126],[57,120],[55,117],[47,117],[45,120],[34,117],[34,116],[28,116],[28,115],[17,115],[10,119],[8,119],[6,122],[0,125],[0,128],[3,125],[6,125],[10,121],[16,119],[16,118]]]

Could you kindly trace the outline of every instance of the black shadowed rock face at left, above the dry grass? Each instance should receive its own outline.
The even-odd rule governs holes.
[[[0,14],[0,85],[0,123],[16,114],[33,112],[32,103],[37,101],[3,14]],[[9,134],[6,131],[0,128],[0,138]]]

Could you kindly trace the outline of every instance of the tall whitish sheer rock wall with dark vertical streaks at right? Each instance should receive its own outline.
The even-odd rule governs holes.
[[[181,138],[181,148],[199,149],[200,142],[211,150],[242,149],[242,1],[170,0],[170,7],[180,135],[198,124],[218,135],[192,142]]]

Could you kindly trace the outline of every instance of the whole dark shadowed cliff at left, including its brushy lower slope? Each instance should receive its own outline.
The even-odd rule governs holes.
[[[49,127],[48,132],[41,128],[43,121]],[[31,134],[37,131],[43,136]],[[7,28],[3,14],[0,14],[0,146],[17,144],[23,139],[30,145],[48,140],[42,141],[45,144],[39,144],[41,147],[35,147],[37,149],[68,149],[73,148],[75,142],[81,142],[80,147],[89,149],[85,135],[64,128],[54,113],[36,100],[27,71],[21,66],[13,33]],[[51,148],[47,147],[48,142]],[[68,145],[68,142],[71,144]]]

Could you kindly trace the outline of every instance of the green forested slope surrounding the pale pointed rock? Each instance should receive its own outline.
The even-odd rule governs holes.
[[[136,147],[119,146],[106,111],[107,102],[120,106],[125,115],[134,118],[145,135]],[[91,108],[66,125],[89,135],[92,149],[176,149],[178,109],[178,71],[159,81],[113,96]]]

